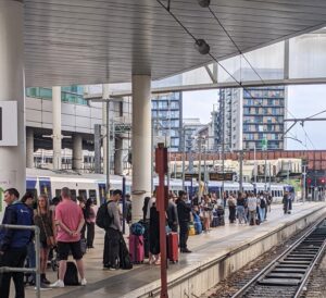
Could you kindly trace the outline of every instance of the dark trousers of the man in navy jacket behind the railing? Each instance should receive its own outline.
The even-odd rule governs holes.
[[[27,254],[27,248],[11,248],[0,256],[0,266],[23,268]],[[0,298],[9,298],[10,281],[13,278],[15,285],[15,298],[25,298],[24,273],[8,272],[0,274]],[[13,297],[13,296],[11,296]]]

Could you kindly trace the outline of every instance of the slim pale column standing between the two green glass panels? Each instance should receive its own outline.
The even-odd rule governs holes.
[[[61,170],[61,87],[52,87],[53,170]]]

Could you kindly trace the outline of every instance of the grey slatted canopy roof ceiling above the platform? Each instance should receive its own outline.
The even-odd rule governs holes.
[[[163,78],[212,62],[156,0],[25,0],[26,86]],[[323,0],[171,0],[171,13],[222,60],[325,26]]]

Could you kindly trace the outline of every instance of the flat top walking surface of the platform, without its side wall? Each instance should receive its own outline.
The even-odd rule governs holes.
[[[170,265],[168,281],[188,274],[189,271],[199,269],[201,265],[210,262],[210,260],[222,258],[243,244],[250,244],[274,229],[325,207],[325,202],[296,203],[292,214],[285,215],[281,206],[276,204],[272,206],[272,212],[267,214],[267,221],[259,226],[226,223],[225,226],[213,228],[210,233],[190,236],[188,247],[193,252],[180,254],[179,262]],[[228,222],[227,218],[226,222]],[[95,249],[89,250],[84,258],[87,286],[47,289],[41,291],[41,297],[137,297],[143,293],[147,286],[150,285],[153,287],[153,285],[160,284],[160,266],[147,263],[134,265],[134,269],[129,271],[103,271],[103,231],[96,231]],[[52,272],[49,269],[47,277],[51,282],[54,282],[57,280],[57,272]],[[208,281],[205,282],[210,283],[210,276],[208,276]],[[140,291],[138,293],[137,290]],[[14,297],[13,287],[11,297]],[[26,298],[32,297],[35,297],[35,290],[32,287],[27,287]]]

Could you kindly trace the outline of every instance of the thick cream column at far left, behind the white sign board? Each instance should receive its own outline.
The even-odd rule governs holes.
[[[17,101],[17,146],[0,147],[0,188],[26,190],[24,7],[0,0],[0,101]],[[3,123],[5,129],[10,122]],[[1,198],[1,191],[0,191]],[[4,203],[0,199],[0,215]]]

